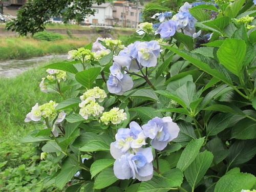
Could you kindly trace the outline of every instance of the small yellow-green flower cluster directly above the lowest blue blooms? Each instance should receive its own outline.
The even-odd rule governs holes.
[[[120,110],[119,108],[113,108],[109,112],[104,112],[100,117],[100,120],[105,124],[109,124],[110,122],[112,124],[118,124],[125,119],[127,119],[127,114],[124,113],[123,109]]]

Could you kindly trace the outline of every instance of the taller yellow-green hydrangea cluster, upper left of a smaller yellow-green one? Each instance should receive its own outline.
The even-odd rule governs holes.
[[[102,102],[105,97],[105,91],[99,87],[95,87],[83,93],[83,95],[80,96],[82,102],[79,103],[79,107],[81,108],[79,114],[84,119],[88,119],[91,115],[95,117],[102,114],[104,108],[96,102],[96,99],[98,99],[99,102]]]

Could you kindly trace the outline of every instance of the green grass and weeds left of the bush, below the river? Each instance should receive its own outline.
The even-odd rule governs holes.
[[[41,67],[15,78],[0,78],[0,191],[59,191],[44,183],[52,167],[40,160],[41,145],[19,142],[29,132],[42,128],[41,124],[24,122],[36,102],[61,101],[56,93],[40,91],[41,77],[47,74]]]

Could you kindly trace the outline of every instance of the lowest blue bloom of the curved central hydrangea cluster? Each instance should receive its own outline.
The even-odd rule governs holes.
[[[133,79],[127,74],[123,74],[121,79],[113,74],[110,74],[109,80],[106,81],[106,86],[108,87],[110,93],[122,95],[125,91],[132,89]]]

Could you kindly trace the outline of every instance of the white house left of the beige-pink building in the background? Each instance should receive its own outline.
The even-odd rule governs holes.
[[[95,10],[94,15],[89,16],[89,24],[92,25],[114,25],[113,9],[111,2],[103,3],[101,5],[93,4],[92,9]]]

